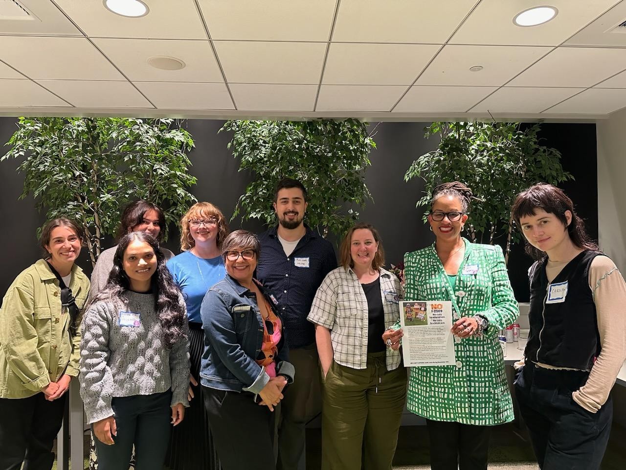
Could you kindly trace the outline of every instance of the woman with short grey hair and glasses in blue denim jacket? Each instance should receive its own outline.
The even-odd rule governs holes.
[[[252,278],[259,253],[254,234],[228,235],[222,243],[227,276],[200,307],[200,384],[223,470],[275,469],[272,412],[294,380],[275,297]]]

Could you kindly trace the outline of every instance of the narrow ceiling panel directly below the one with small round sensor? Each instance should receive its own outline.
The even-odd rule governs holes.
[[[393,112],[464,113],[496,89],[494,86],[411,86]]]

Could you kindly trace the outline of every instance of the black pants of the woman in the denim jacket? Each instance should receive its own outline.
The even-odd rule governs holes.
[[[208,424],[224,470],[275,470],[274,413],[250,392],[202,386]]]

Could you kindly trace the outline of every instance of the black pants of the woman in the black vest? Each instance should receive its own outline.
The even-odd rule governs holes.
[[[611,398],[596,413],[572,399],[589,373],[525,365],[515,380],[520,413],[543,470],[600,468],[613,419]]]

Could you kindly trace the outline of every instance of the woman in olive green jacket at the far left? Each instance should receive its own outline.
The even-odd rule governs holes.
[[[74,262],[83,232],[54,219],[45,259],[13,281],[0,310],[0,469],[49,470],[69,382],[78,375],[80,314],[89,279]]]

